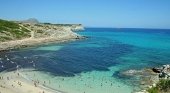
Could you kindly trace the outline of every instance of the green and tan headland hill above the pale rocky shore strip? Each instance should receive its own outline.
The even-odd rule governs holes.
[[[33,20],[33,19],[30,19]],[[51,24],[32,21],[7,21],[0,19],[0,42],[24,38],[62,37],[75,35],[72,31],[83,30],[81,24]]]

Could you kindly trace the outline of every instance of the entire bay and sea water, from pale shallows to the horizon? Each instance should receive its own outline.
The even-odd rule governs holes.
[[[0,70],[19,65],[28,78],[66,93],[131,93],[140,90],[138,79],[121,72],[170,63],[170,30],[87,28],[78,33],[89,38],[1,53]]]

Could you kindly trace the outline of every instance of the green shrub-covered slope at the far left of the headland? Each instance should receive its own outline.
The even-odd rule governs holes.
[[[0,19],[0,42],[30,37],[30,31],[18,23]]]

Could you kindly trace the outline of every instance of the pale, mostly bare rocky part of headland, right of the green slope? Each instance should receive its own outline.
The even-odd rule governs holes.
[[[62,37],[76,34],[74,31],[83,30],[81,24],[51,24],[51,23],[19,23],[20,26],[31,31],[32,38]]]

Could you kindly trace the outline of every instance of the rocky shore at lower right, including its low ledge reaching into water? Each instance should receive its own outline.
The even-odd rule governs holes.
[[[169,86],[168,83],[160,84],[162,80],[169,82],[170,80],[170,65],[162,65],[141,70],[126,70],[120,74],[132,78],[138,77],[139,89],[133,93],[158,93],[162,91],[170,91],[169,88],[164,89],[162,86]],[[159,85],[160,84],[160,85]],[[159,89],[160,88],[160,89]],[[157,90],[156,90],[157,89]],[[153,92],[157,91],[157,92]],[[163,92],[164,93],[164,92]],[[169,92],[166,92],[169,93]]]

